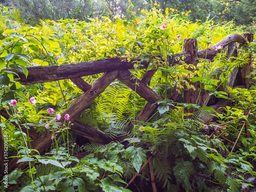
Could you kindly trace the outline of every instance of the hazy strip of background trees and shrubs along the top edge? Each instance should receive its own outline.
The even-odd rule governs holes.
[[[126,15],[130,11],[139,16],[141,15],[140,10],[149,10],[153,5],[157,5],[158,10],[163,14],[166,8],[172,8],[174,12],[179,14],[186,14],[186,12],[191,11],[189,19],[194,22],[196,20],[205,22],[209,16],[218,23],[232,20],[236,25],[248,27],[256,16],[254,0],[2,0],[1,3],[20,10],[19,14],[22,15],[24,22],[30,25],[37,24],[39,19],[77,18],[87,20],[87,18],[93,17]]]

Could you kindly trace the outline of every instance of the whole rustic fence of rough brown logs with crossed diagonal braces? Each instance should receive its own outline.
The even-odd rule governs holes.
[[[197,65],[196,58],[206,58],[206,59],[214,59],[216,54],[220,52],[220,50],[216,51],[216,46],[223,44],[223,49],[227,51],[227,57],[231,55],[236,56],[237,49],[240,48],[241,45],[251,42],[253,40],[252,33],[245,33],[242,35],[238,34],[230,34],[214,46],[211,46],[208,49],[198,51],[197,40],[195,38],[184,39],[183,45],[183,52],[170,55],[169,56],[169,65],[179,65],[179,62],[176,58],[185,56],[184,61],[186,63],[190,63],[193,65]],[[237,46],[238,43],[238,46]],[[147,86],[150,83],[152,76],[157,70],[150,70],[147,71],[141,79],[136,79],[129,70],[134,69],[133,61],[137,59],[132,59],[131,61],[127,61],[125,58],[106,58],[94,61],[87,61],[87,62],[80,62],[77,65],[61,65],[61,66],[45,66],[45,67],[28,67],[28,76],[27,78],[23,73],[15,71],[20,79],[19,82],[25,85],[31,85],[35,83],[42,83],[42,82],[50,82],[56,81],[60,79],[71,79],[79,89],[83,91],[83,93],[68,107],[68,109],[63,112],[63,114],[69,114],[70,119],[69,121],[72,124],[71,130],[72,132],[79,134],[83,137],[89,138],[98,143],[109,143],[112,139],[108,135],[104,135],[102,133],[97,132],[93,127],[83,124],[81,122],[76,121],[75,119],[84,111],[90,103],[97,98],[106,87],[108,87],[115,79],[120,81],[124,81],[129,88],[139,94],[142,98],[147,100],[146,105],[140,112],[140,114],[136,117],[136,120],[146,121],[148,117],[153,113],[153,111],[157,108],[156,101],[163,100],[159,95],[157,95],[150,87]],[[243,68],[234,69],[233,72],[230,74],[228,78],[227,85],[229,87],[233,87],[234,80],[237,81],[239,86],[245,86],[247,89],[249,88],[249,79],[245,78],[251,72],[251,64],[247,63]],[[141,62],[140,69],[146,69],[148,66],[147,62]],[[92,85],[85,82],[81,77],[104,73],[96,82]],[[136,87],[136,83],[139,86]],[[198,88],[198,83],[194,83],[194,86]],[[176,91],[170,99],[176,100],[179,93]],[[201,106],[207,104],[209,92],[203,90],[200,94],[200,99],[197,104]],[[184,102],[185,103],[193,103],[196,104],[198,97],[198,90],[193,91],[190,89],[184,93]],[[219,109],[221,106],[226,106],[229,104],[227,99],[221,99],[219,102],[211,105],[210,107],[215,109],[218,112],[221,112],[223,109]],[[5,110],[1,110],[1,115],[8,119],[9,116]],[[205,120],[207,121],[207,120]],[[64,115],[61,115],[61,119],[59,120],[60,123],[65,122]],[[17,126],[17,124],[14,123]],[[130,131],[133,128],[133,124],[130,123],[127,125],[125,131]],[[22,129],[25,133],[27,130],[25,127]],[[0,133],[3,137],[3,133]],[[46,148],[51,145],[52,134],[41,134],[38,135],[36,129],[34,127],[30,127],[29,129],[29,136],[33,141],[31,142],[31,147],[37,150],[39,153],[42,153],[46,150]],[[60,136],[60,133],[55,133],[56,138]],[[1,136],[0,136],[1,137]],[[121,141],[122,138],[118,138],[118,141]],[[0,139],[1,141],[1,139]],[[0,143],[1,149],[0,154],[3,154],[4,146]],[[1,151],[2,150],[2,151]],[[33,152],[34,153],[34,152]],[[82,157],[80,155],[80,157]],[[9,173],[14,170],[15,168],[24,169],[28,165],[26,162],[18,163],[18,158],[12,158],[9,161]],[[0,163],[2,165],[3,156],[0,157]],[[1,173],[2,170],[0,170]]]

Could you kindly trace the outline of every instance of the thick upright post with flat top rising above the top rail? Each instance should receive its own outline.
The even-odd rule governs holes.
[[[188,51],[191,55],[191,63],[194,66],[197,66],[198,61],[195,60],[196,57],[198,57],[198,46],[197,46],[197,39],[196,38],[187,38],[184,39],[184,45],[183,45],[183,52]],[[188,69],[192,71],[192,69]],[[200,87],[200,82],[190,82],[191,85],[193,85],[196,90],[189,89],[188,91],[184,91],[184,103],[197,103],[197,99],[199,96],[198,89]],[[193,109],[192,109],[193,110]],[[190,110],[189,110],[190,111]],[[192,112],[192,111],[190,111]]]

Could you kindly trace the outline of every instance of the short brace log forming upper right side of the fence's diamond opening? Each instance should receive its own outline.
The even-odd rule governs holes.
[[[135,78],[134,75],[130,71],[119,71],[117,79],[120,81],[124,81],[125,84],[137,94],[139,94],[142,98],[155,103],[156,101],[163,100],[159,95],[157,95],[152,89],[146,86],[145,83]],[[137,83],[137,84],[136,84]]]

